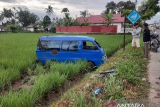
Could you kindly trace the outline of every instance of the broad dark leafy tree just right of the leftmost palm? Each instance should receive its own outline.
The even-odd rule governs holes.
[[[23,27],[26,27],[30,24],[35,24],[39,18],[34,13],[30,13],[28,10],[20,10],[18,12],[19,22],[22,24]]]

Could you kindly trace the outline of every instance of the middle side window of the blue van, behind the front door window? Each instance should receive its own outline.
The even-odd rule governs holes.
[[[63,41],[61,49],[63,51],[77,51],[78,42],[77,41]]]

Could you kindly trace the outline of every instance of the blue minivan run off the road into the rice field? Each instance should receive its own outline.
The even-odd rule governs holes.
[[[106,60],[106,54],[98,42],[88,36],[42,36],[36,49],[37,60],[74,62],[86,60],[100,66]]]

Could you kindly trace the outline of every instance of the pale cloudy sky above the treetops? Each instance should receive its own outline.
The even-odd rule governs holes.
[[[3,8],[24,7],[42,18],[46,14],[45,8],[47,8],[48,5],[52,5],[56,16],[62,17],[61,10],[67,7],[72,17],[78,17],[80,11],[83,10],[88,10],[89,13],[95,15],[101,14],[105,10],[107,2],[110,1],[118,2],[119,0],[0,0],[0,11],[2,11]],[[138,4],[140,5],[142,1],[143,0],[138,0]],[[151,22],[157,21],[159,17],[160,13],[156,15]]]

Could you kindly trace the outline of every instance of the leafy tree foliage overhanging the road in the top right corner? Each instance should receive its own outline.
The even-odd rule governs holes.
[[[147,0],[142,3],[138,11],[142,15],[143,20],[148,20],[160,11],[158,6],[159,0]]]

